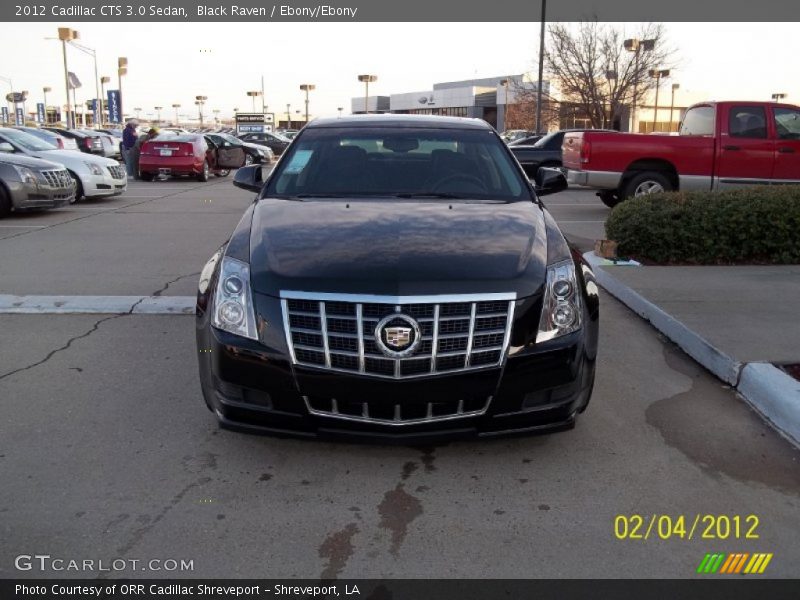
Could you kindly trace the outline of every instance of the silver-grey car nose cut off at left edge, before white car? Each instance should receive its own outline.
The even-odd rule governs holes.
[[[74,201],[75,182],[63,165],[0,152],[0,217]]]

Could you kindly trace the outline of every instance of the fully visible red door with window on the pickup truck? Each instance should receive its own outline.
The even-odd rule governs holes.
[[[768,183],[772,177],[775,140],[769,135],[763,105],[731,105],[721,115],[717,177],[719,188]]]

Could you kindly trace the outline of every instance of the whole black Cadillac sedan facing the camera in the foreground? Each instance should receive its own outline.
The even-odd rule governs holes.
[[[418,441],[567,428],[598,296],[486,123],[319,119],[202,271],[206,403],[252,432]],[[539,195],[566,186],[539,172]]]

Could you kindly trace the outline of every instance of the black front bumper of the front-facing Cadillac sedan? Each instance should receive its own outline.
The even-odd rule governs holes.
[[[222,426],[252,433],[408,443],[554,431],[573,426],[594,381],[583,330],[508,358],[502,368],[412,380],[293,366],[288,354],[214,329],[203,316],[197,342],[207,405]],[[340,406],[369,404],[373,412],[385,404],[391,413],[400,404],[424,415],[430,403],[453,406],[459,400],[465,402],[464,412],[485,411],[402,425],[312,414],[314,407],[329,410],[331,398]]]

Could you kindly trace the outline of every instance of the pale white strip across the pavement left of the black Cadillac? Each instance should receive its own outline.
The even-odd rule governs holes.
[[[14,296],[0,294],[6,315],[190,315],[194,296]]]

